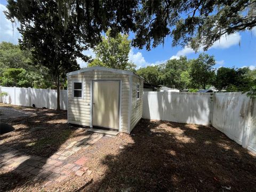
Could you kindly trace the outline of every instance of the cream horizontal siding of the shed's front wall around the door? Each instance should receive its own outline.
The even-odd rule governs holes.
[[[78,125],[91,125],[91,80],[109,80],[122,81],[122,109],[121,109],[121,131],[128,130],[128,113],[129,113],[129,76],[126,74],[117,74],[110,71],[86,71],[77,75],[68,77],[68,122]],[[76,80],[83,81],[84,98],[76,99],[72,95],[73,82]]]

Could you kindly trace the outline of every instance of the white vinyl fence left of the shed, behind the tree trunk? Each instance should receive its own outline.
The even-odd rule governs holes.
[[[20,87],[0,87],[0,93],[7,92],[8,95],[3,98],[6,103],[18,106],[46,107],[48,109],[57,109],[57,90],[51,89],[32,89]],[[2,98],[0,100],[2,101]],[[68,93],[67,90],[60,90],[60,108],[67,110]]]

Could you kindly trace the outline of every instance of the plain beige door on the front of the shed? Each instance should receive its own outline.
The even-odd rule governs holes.
[[[119,128],[119,81],[93,82],[92,125]]]

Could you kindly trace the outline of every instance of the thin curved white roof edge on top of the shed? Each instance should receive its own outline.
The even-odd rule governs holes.
[[[104,70],[104,71],[110,71],[110,72],[118,73],[118,74],[135,75],[135,76],[138,76],[138,77],[142,78],[141,76],[133,73],[132,71],[121,70],[121,69],[113,69],[113,68],[107,68],[107,67],[101,67],[101,66],[87,67],[87,68],[84,68],[84,69],[72,71],[72,72],[67,73],[67,76],[77,75],[79,73],[83,73],[83,72],[86,72],[86,71],[94,71],[94,70]]]

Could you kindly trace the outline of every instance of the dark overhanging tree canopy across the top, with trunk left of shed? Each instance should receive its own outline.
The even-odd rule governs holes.
[[[133,31],[132,45],[147,50],[166,36],[172,46],[207,50],[222,35],[255,27],[255,7],[255,0],[8,0],[5,14],[19,20],[21,45],[31,47],[59,84],[61,74],[78,68],[76,57],[89,59],[83,49],[97,45],[108,28],[111,36]]]

